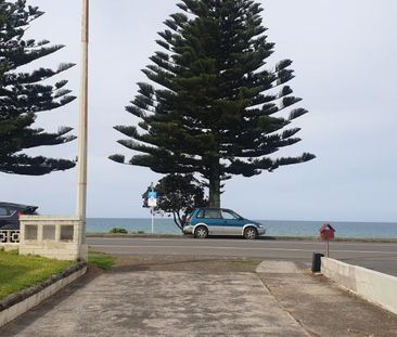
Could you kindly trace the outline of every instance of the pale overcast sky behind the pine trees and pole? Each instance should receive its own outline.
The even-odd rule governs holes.
[[[46,14],[27,36],[65,44],[29,67],[77,65],[60,75],[78,95],[80,0],[28,0]],[[88,217],[146,218],[141,194],[162,176],[107,159],[132,153],[116,141],[116,125],[133,124],[125,112],[144,81],[141,69],[161,50],[163,22],[179,12],[176,0],[93,0],[90,23]],[[222,207],[262,220],[397,222],[397,2],[392,0],[261,1],[268,40],[276,42],[269,67],[294,61],[289,82],[309,114],[296,119],[302,142],[280,155],[310,152],[315,160],[226,183]],[[78,101],[39,115],[38,126],[72,126]],[[77,142],[28,152],[75,158]],[[0,173],[0,200],[39,206],[43,215],[76,212],[77,170],[43,177]]]

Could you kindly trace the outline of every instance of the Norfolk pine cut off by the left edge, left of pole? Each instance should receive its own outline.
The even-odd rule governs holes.
[[[75,99],[64,89],[66,80],[54,86],[46,81],[71,68],[62,64],[56,70],[39,68],[31,73],[18,68],[52,54],[63,46],[49,41],[25,40],[25,30],[43,13],[26,5],[26,1],[0,0],[0,172],[40,176],[75,166],[66,159],[24,154],[26,148],[56,145],[75,139],[72,128],[61,127],[55,133],[35,128],[37,113],[61,107]]]

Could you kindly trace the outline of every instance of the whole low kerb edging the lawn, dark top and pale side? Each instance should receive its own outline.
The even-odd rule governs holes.
[[[87,272],[87,262],[79,262],[60,275],[48,278],[40,285],[11,295],[0,301],[0,327],[37,307]]]

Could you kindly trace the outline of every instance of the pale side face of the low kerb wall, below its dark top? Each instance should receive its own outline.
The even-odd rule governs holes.
[[[25,300],[3,310],[0,311],[0,327],[5,325],[7,323],[15,320],[17,316],[22,315],[26,311],[30,310],[31,308],[40,304],[44,299],[49,298],[76,278],[80,277],[87,272],[87,267],[84,269],[68,275],[65,278],[62,278],[54,284],[50,285],[49,287],[42,289],[40,293],[37,293]]]

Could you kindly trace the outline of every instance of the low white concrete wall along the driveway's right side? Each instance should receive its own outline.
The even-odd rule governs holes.
[[[397,314],[397,277],[330,258],[321,258],[321,273],[368,301]]]

